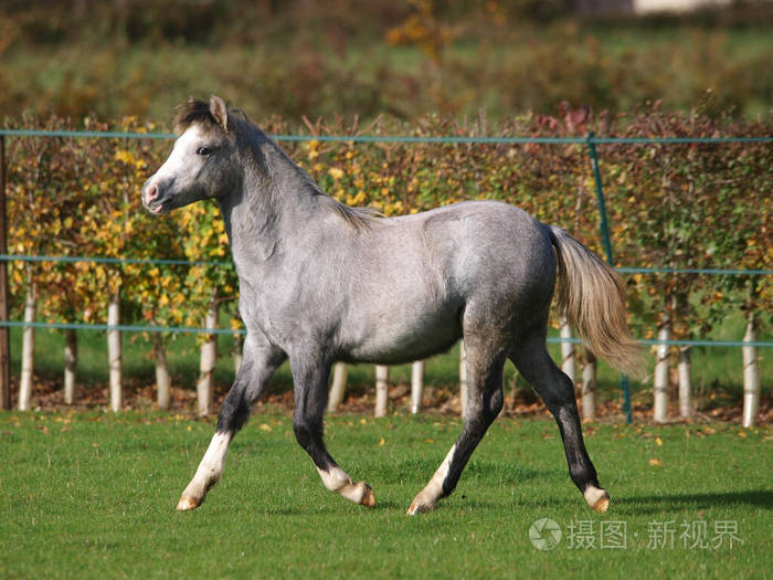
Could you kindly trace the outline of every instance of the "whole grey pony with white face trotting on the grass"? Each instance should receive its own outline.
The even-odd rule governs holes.
[[[592,508],[606,510],[610,496],[585,451],[573,384],[546,350],[558,278],[559,308],[590,348],[639,373],[624,287],[602,260],[563,230],[505,203],[464,202],[389,219],[349,208],[216,96],[178,107],[176,131],[169,159],[142,187],[142,202],[160,214],[216,201],[247,329],[242,367],[178,509],[199,507],[220,479],[231,440],[286,359],[298,443],[330,491],[374,506],[370,486],[352,482],[324,443],[332,365],[410,362],[463,338],[468,418],[409,514],[433,509],[456,487],[502,407],[508,358],[555,418],[572,481]]]

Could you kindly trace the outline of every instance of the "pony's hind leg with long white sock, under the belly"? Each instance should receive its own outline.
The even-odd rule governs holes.
[[[456,488],[463,470],[502,408],[505,357],[475,338],[465,338],[467,352],[467,421],[456,443],[407,509],[413,516],[435,508]]]

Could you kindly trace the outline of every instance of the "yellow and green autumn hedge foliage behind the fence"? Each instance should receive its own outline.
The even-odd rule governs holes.
[[[587,145],[325,141],[315,135],[495,137],[754,137],[773,119],[664,113],[653,107],[614,118],[565,109],[497,123],[425,116],[411,125],[378,119],[367,127],[340,120],[289,126],[271,134],[311,133],[283,143],[336,199],[384,215],[473,199],[520,205],[561,225],[602,253],[599,209]],[[155,131],[153,124],[25,117],[9,128]],[[773,148],[770,143],[600,144],[601,170],[617,265],[773,270]],[[163,161],[158,139],[8,138],[9,249],[17,254],[174,259],[229,262],[214,203],[156,218],[141,209],[140,187]],[[11,318],[24,288],[39,288],[39,316],[50,321],[102,323],[120,289],[123,316],[137,324],[200,326],[213,293],[236,320],[237,282],[229,265],[11,262]],[[749,288],[750,280],[753,288]],[[652,336],[658,313],[675,316],[676,337],[705,336],[730,312],[770,304],[770,277],[636,274],[627,277],[635,334]],[[744,286],[746,286],[744,288]],[[741,292],[741,291],[744,292]],[[676,296],[676,300],[667,300]],[[700,314],[699,314],[700,313]],[[767,313],[770,315],[770,312]],[[764,323],[764,320],[763,320]]]

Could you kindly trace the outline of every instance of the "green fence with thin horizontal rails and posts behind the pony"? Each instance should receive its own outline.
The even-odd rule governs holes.
[[[103,325],[78,323],[24,323],[8,319],[8,278],[6,264],[11,261],[24,262],[54,262],[76,263],[91,262],[102,264],[148,264],[148,265],[211,265],[233,267],[231,262],[212,262],[169,259],[133,259],[133,257],[106,257],[106,256],[46,256],[23,255],[7,253],[7,226],[6,226],[6,137],[42,137],[42,138],[95,138],[95,139],[172,139],[169,133],[127,133],[127,131],[89,131],[89,130],[30,130],[30,129],[0,129],[0,407],[6,407],[6,399],[10,397],[10,355],[8,351],[8,329],[11,327],[32,326],[36,328],[76,329],[76,330],[119,330],[129,333],[207,333],[207,334],[234,334],[244,330],[198,328],[198,327],[161,327],[161,326],[135,326],[135,325]],[[771,136],[760,137],[596,137],[589,134],[585,137],[424,137],[424,136],[381,136],[381,135],[271,135],[277,141],[325,141],[325,143],[385,143],[385,144],[438,144],[438,145],[584,145],[589,149],[589,157],[593,167],[593,176],[596,188],[600,212],[600,233],[606,260],[613,267],[613,247],[608,233],[604,191],[599,169],[599,155],[596,145],[721,145],[728,143],[773,143]],[[723,268],[674,268],[674,267],[616,267],[622,274],[699,274],[699,275],[729,275],[729,276],[767,276],[773,274],[770,270],[723,270]],[[549,338],[550,342],[580,342],[578,339]],[[700,347],[773,347],[773,341],[758,340],[752,342],[740,340],[639,340],[644,345],[673,345],[673,346],[700,346]],[[626,421],[631,422],[631,403],[627,379],[621,382],[624,391],[624,410]],[[8,399],[10,400],[10,399]]]

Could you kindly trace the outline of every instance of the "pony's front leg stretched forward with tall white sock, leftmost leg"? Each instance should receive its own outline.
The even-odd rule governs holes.
[[[286,358],[265,338],[252,335],[244,341],[243,352],[242,366],[223,401],[210,446],[177,505],[180,512],[199,507],[209,489],[220,481],[231,440],[250,416],[250,409],[263,394],[268,379]]]

